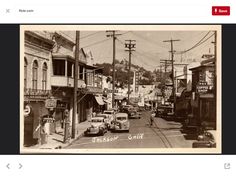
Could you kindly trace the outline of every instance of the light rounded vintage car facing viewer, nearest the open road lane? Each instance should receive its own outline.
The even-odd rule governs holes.
[[[112,121],[112,131],[128,131],[130,128],[130,122],[128,119],[128,114],[117,113],[115,115],[114,121]]]

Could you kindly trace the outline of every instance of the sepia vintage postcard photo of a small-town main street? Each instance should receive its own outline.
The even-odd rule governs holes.
[[[23,150],[220,146],[217,29],[25,28]]]

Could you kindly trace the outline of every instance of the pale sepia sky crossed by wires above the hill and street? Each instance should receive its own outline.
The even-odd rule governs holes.
[[[64,31],[63,33],[75,40],[75,32]],[[184,54],[175,54],[175,63],[191,63],[194,60],[200,61],[201,56],[207,53],[214,53],[214,33],[209,31],[117,31],[116,59],[128,60],[128,52],[125,51],[125,40],[136,40],[136,49],[132,52],[131,63],[153,71],[159,68],[160,60],[170,58],[170,42],[164,40],[179,39],[174,42],[176,52],[184,51],[198,43],[207,35],[204,43]],[[107,37],[106,31],[81,31],[80,47],[86,51],[91,51],[95,63],[112,63],[113,42],[111,37]],[[203,40],[203,41],[204,41]]]

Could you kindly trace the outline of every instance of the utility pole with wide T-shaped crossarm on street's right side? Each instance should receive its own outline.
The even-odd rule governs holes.
[[[173,98],[174,98],[174,113],[175,113],[175,102],[176,102],[176,94],[175,94],[175,79],[174,79],[174,46],[173,42],[180,41],[179,39],[170,39],[170,40],[165,40],[163,42],[170,42],[170,53],[171,53],[171,65],[172,65],[172,83],[173,83]]]

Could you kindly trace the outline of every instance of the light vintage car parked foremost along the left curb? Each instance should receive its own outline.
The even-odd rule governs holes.
[[[85,131],[85,135],[104,135],[107,132],[104,117],[91,118],[91,126]]]

